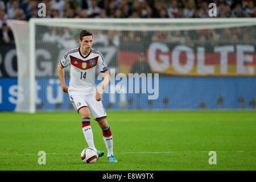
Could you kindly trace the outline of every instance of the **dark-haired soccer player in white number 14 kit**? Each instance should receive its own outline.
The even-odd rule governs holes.
[[[79,39],[80,47],[66,52],[61,59],[57,71],[63,92],[69,94],[73,106],[82,118],[82,132],[89,147],[95,148],[92,128],[90,127],[90,114],[102,129],[104,142],[108,150],[109,162],[117,162],[113,155],[113,137],[106,120],[106,112],[102,105],[101,92],[109,84],[110,75],[102,54],[92,48],[93,35],[90,31],[82,30]],[[64,68],[70,66],[69,86],[65,84]],[[104,80],[96,90],[96,69],[100,69]],[[96,149],[97,150],[97,149]],[[98,151],[98,156],[104,151]]]

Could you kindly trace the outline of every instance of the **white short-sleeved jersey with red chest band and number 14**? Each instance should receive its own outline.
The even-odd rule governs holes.
[[[89,95],[96,93],[96,69],[100,72],[108,70],[102,54],[91,49],[88,56],[82,56],[80,47],[66,52],[60,61],[63,67],[70,65],[69,95]]]

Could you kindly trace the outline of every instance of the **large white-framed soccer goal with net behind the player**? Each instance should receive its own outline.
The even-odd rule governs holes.
[[[18,56],[16,111],[73,110],[57,65],[81,30],[108,65],[106,109],[254,109],[256,19],[9,20]],[[102,76],[96,76],[96,86]],[[65,68],[69,84],[69,67]]]

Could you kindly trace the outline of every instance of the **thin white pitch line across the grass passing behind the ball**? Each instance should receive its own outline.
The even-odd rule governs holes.
[[[180,153],[208,153],[209,151],[166,151],[166,152],[115,152],[116,154],[180,154]],[[256,151],[216,151],[221,153],[230,153],[230,152],[256,152]],[[76,153],[46,153],[46,155],[80,155]],[[28,154],[0,154],[0,155],[38,155],[33,153]]]

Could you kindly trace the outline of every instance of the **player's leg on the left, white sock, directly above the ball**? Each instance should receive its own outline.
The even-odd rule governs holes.
[[[96,149],[93,141],[92,127],[90,126],[90,111],[84,98],[82,98],[82,96],[70,96],[69,98],[82,118],[82,133],[84,134],[88,146]]]

